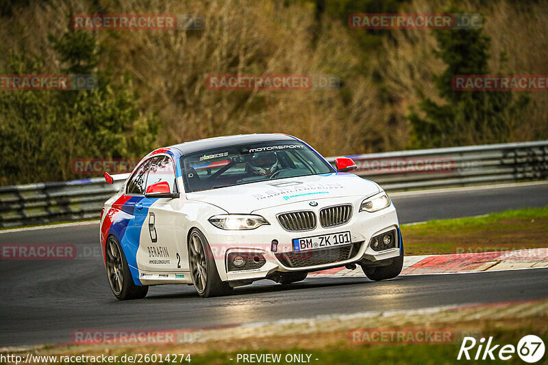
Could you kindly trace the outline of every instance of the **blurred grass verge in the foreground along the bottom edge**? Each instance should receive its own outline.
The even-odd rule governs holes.
[[[135,355],[190,354],[186,364],[242,364],[238,354],[279,354],[276,364],[295,364],[286,355],[303,355],[310,364],[453,364],[464,336],[476,340],[493,337],[493,345],[512,344],[523,336],[534,334],[548,343],[548,300],[514,303],[364,312],[352,315],[318,316],[314,319],[280,321],[231,329],[211,329],[201,332],[190,343],[148,346],[63,345],[34,349],[36,355]],[[356,329],[403,331],[440,330],[453,332],[451,341],[432,344],[422,341],[412,344],[397,340],[356,341]],[[501,346],[499,346],[500,349]],[[27,350],[9,350],[24,355]],[[472,357],[477,351],[471,350]],[[495,356],[496,356],[495,351]],[[548,355],[537,364],[546,364]],[[316,360],[317,359],[317,360]],[[462,362],[462,361],[461,361]],[[485,363],[464,361],[466,364]],[[490,364],[523,364],[514,354],[508,362],[488,361]],[[151,363],[151,362],[145,362]],[[158,363],[158,362],[157,362]],[[249,362],[248,362],[249,363]],[[264,364],[266,362],[255,362]]]

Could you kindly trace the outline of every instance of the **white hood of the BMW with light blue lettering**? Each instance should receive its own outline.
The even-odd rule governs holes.
[[[245,214],[294,202],[357,195],[366,198],[379,191],[379,185],[371,180],[338,172],[197,191],[187,193],[186,198],[219,206],[228,213]]]

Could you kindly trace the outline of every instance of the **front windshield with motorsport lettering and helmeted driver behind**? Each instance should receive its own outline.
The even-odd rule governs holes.
[[[188,154],[182,160],[187,192],[334,171],[298,141],[229,146]]]

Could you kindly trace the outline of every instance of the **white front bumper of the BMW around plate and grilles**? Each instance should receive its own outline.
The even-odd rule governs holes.
[[[362,259],[375,262],[399,256],[401,239],[397,213],[393,204],[390,204],[390,206],[381,211],[368,213],[358,211],[363,197],[356,197],[351,200],[356,201],[351,201],[353,204],[353,215],[350,221],[347,224],[333,228],[323,228],[318,224],[314,230],[288,232],[280,226],[276,219],[276,215],[281,213],[279,206],[253,212],[253,214],[262,215],[262,217],[270,222],[270,225],[260,226],[255,230],[221,230],[210,225],[207,237],[221,280],[231,282],[253,281],[269,278],[269,276],[277,272],[319,271],[353,264]],[[321,204],[317,207],[309,206],[308,202],[290,204],[290,206],[284,206],[284,211],[307,210],[314,211],[317,215],[322,206],[349,203],[348,201],[341,202],[340,200],[338,202],[319,200],[319,202]],[[370,247],[371,238],[390,230],[397,230],[398,232],[396,247],[379,252],[373,250]],[[351,234],[351,245],[314,249],[301,252],[300,254],[293,251],[293,239],[347,231]],[[276,252],[271,251],[273,240],[278,242]],[[238,252],[244,252],[248,256],[258,254],[261,257],[260,267],[229,271],[227,258],[234,256],[234,253]],[[321,259],[319,259],[320,252],[323,253]],[[262,258],[264,258],[264,262]],[[234,269],[234,267],[231,269]]]

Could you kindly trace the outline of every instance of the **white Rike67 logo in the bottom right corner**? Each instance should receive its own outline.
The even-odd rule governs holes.
[[[476,348],[477,345],[477,348]],[[513,344],[493,344],[493,337],[477,341],[473,337],[465,337],[460,345],[457,360],[510,360],[517,355],[530,364],[538,362],[545,353],[545,344],[538,336],[527,335],[519,340],[517,347]]]

